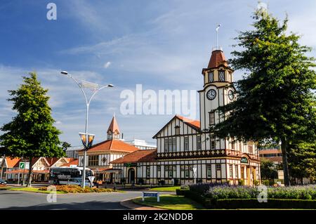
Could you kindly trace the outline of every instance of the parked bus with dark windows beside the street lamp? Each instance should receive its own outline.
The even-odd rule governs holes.
[[[67,185],[70,183],[81,185],[83,167],[58,166],[49,170],[48,183],[54,185]],[[86,181],[88,176],[94,176],[91,169],[86,168]]]

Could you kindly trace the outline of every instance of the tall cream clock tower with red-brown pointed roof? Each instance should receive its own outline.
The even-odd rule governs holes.
[[[209,126],[220,122],[218,106],[225,105],[234,100],[235,95],[232,88],[228,87],[232,83],[233,70],[228,66],[222,48],[213,48],[209,65],[202,70],[204,85],[199,91],[199,111],[201,130],[209,129]],[[225,149],[225,143],[217,143],[215,147]],[[220,141],[219,141],[220,142]]]

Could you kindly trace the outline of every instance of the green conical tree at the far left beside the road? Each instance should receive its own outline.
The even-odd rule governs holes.
[[[24,83],[18,90],[8,91],[12,98],[13,110],[18,114],[12,121],[4,124],[0,136],[1,154],[10,157],[24,157],[32,162],[34,157],[62,157],[58,135],[61,133],[53,126],[51,107],[48,106],[47,89],[41,87],[35,72],[23,77]],[[29,166],[29,180],[32,182],[32,166]]]

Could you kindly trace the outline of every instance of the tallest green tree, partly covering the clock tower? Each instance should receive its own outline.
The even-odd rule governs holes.
[[[287,34],[286,18],[256,11],[254,29],[239,32],[230,65],[244,77],[232,84],[237,100],[218,107],[225,121],[211,132],[220,138],[281,143],[284,183],[289,183],[287,151],[297,140],[315,139],[315,59],[311,48],[298,44],[297,34]]]

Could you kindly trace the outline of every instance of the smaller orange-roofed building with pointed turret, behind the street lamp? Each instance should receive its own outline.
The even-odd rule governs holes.
[[[112,169],[110,162],[138,150],[138,148],[133,145],[124,143],[119,136],[119,125],[117,124],[117,119],[113,116],[111,124],[107,129],[107,140],[93,145],[86,152],[86,166],[95,172],[96,180],[102,180],[108,183],[117,182],[119,170]],[[83,166],[83,164],[84,150],[80,150],[79,166]]]

